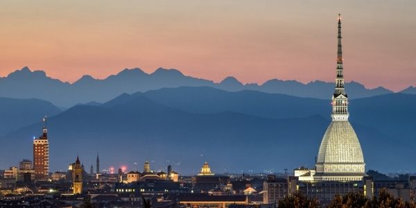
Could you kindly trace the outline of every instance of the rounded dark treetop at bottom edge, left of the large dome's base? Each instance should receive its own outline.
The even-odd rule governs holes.
[[[279,208],[315,208],[320,207],[318,200],[315,198],[309,199],[299,191],[286,196],[277,203]]]

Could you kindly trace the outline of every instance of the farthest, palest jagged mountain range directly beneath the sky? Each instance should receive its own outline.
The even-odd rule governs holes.
[[[159,68],[153,73],[145,73],[139,68],[124,69],[116,75],[103,80],[85,75],[75,83],[64,83],[61,80],[46,76],[44,71],[31,71],[28,67],[14,71],[7,77],[0,78],[0,96],[9,98],[39,98],[44,101],[71,107],[78,103],[105,103],[112,98],[128,93],[146,92],[164,87],[215,87],[230,92],[241,90],[255,90],[259,92],[287,94],[310,98],[329,98],[333,91],[333,83],[314,81],[308,84],[295,80],[268,80],[262,85],[243,85],[230,76],[220,83],[202,78],[185,76],[176,69]],[[366,89],[365,86],[351,82],[346,87],[351,98],[363,98],[381,94],[390,94],[390,90],[383,87]]]

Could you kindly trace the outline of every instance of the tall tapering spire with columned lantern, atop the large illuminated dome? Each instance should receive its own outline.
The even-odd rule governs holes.
[[[348,120],[348,96],[344,88],[343,74],[343,44],[341,43],[343,36],[341,35],[341,14],[338,14],[338,51],[336,58],[336,78],[335,91],[332,96],[332,120],[347,121]]]

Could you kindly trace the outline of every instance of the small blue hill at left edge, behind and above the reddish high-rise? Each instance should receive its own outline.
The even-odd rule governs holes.
[[[44,116],[54,116],[61,110],[39,99],[0,98],[0,135],[37,123]]]

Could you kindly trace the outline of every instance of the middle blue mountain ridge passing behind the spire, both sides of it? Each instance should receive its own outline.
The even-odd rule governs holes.
[[[347,90],[348,92],[348,90]],[[299,98],[256,91],[226,92],[211,87],[178,87],[137,92],[153,101],[195,113],[240,112],[271,119],[320,115],[329,119],[329,99]],[[373,127],[401,141],[416,135],[416,95],[385,94],[349,101],[350,121]]]

